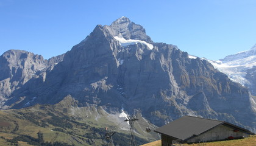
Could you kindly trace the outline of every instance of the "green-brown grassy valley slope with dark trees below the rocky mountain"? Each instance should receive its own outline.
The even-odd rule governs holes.
[[[79,108],[71,98],[56,105],[0,111],[0,145],[106,145],[105,127],[115,129],[118,125],[108,116],[96,106]],[[135,127],[144,133],[136,134],[137,144],[155,141],[141,125],[135,123]],[[113,142],[129,145],[129,138],[129,130],[118,129]]]

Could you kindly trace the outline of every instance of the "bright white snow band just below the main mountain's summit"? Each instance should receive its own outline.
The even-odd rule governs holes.
[[[130,45],[130,44],[141,43],[141,44],[146,44],[146,46],[148,46],[149,49],[151,49],[151,50],[154,48],[154,46],[153,46],[152,44],[149,44],[149,43],[147,43],[146,41],[132,40],[132,39],[126,40],[125,38],[121,38],[121,37],[119,37],[119,36],[114,36],[114,38],[115,38],[116,40],[118,40],[119,43],[121,44],[121,46],[123,46],[123,47],[126,47],[126,46],[128,46],[128,45]]]

